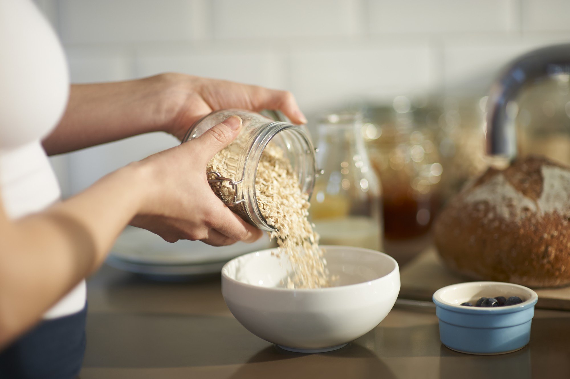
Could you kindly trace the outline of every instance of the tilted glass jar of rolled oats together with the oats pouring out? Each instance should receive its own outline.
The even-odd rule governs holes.
[[[276,238],[275,256],[284,255],[291,263],[284,287],[329,286],[323,250],[308,221],[317,171],[310,136],[302,126],[226,109],[194,124],[184,142],[231,116],[242,118],[242,129],[207,165],[210,187],[243,220]]]

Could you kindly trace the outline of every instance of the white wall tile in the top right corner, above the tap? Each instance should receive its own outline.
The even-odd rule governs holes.
[[[522,0],[525,31],[570,31],[570,1]],[[570,35],[567,34],[567,37]]]

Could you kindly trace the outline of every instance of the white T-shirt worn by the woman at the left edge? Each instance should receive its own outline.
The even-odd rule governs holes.
[[[57,125],[68,94],[67,63],[49,24],[30,0],[0,0],[0,200],[11,219],[60,199],[40,141]],[[82,281],[44,318],[78,312],[85,301]]]

